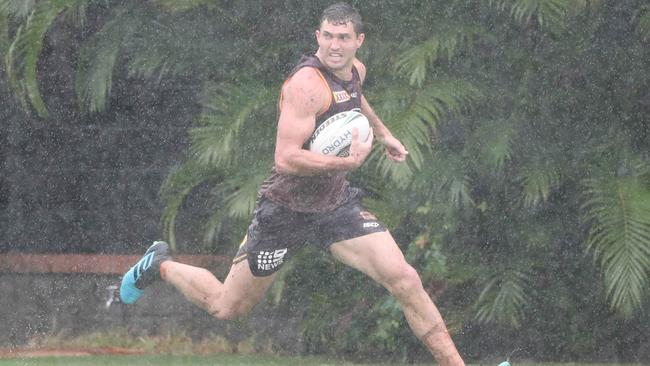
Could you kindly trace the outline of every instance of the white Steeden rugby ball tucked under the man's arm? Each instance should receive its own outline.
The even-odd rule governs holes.
[[[370,123],[358,110],[337,113],[321,123],[309,140],[309,150],[329,156],[348,156],[352,143],[352,129],[359,130],[359,140],[370,136]]]

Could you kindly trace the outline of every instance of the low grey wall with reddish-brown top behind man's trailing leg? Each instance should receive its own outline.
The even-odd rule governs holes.
[[[50,270],[43,267],[43,257],[48,258]],[[74,265],[75,257],[78,256],[0,254],[0,348],[23,346],[30,339],[45,336],[75,337],[128,329],[134,336],[172,331],[197,340],[214,335],[234,343],[253,340],[255,344],[267,345],[272,340],[279,349],[301,351],[298,319],[281,318],[287,314],[281,315],[264,301],[243,321],[221,321],[192,305],[171,286],[157,283],[136,304],[113,302],[107,307],[107,287],[118,284],[117,272],[122,273],[133,261],[126,256],[94,256],[91,262],[105,273],[88,273]],[[197,265],[217,264],[218,272],[224,268],[223,257],[189,256],[179,260]],[[111,268],[111,261],[116,264],[113,270],[104,270]],[[63,267],[63,262],[70,263],[69,269]],[[9,271],[16,268],[20,269]],[[219,277],[223,278],[221,274]]]

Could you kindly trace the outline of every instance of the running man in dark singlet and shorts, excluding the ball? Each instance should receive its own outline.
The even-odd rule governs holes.
[[[355,58],[365,38],[362,27],[359,13],[347,4],[325,9],[316,54],[303,57],[282,86],[275,165],[259,190],[254,218],[225,281],[173,261],[167,244],[155,242],[124,275],[123,302],[135,302],[147,285],[162,279],[213,316],[235,319],[262,299],[282,264],[309,242],[384,286],[440,365],[464,365],[418,273],[346,180],[370,153],[373,134],[391,160],[401,163],[408,154],[362,94],[366,68]],[[355,130],[347,157],[308,150],[319,124],[353,109],[370,121],[367,141],[361,142]]]

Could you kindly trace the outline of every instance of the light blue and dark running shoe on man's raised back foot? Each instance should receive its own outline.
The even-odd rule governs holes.
[[[144,256],[122,277],[120,299],[125,304],[133,304],[142,296],[142,290],[160,279],[160,263],[170,260],[169,245],[155,241]]]

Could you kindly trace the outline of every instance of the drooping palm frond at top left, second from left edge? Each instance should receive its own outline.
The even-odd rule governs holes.
[[[75,87],[82,108],[90,112],[104,110],[113,83],[113,69],[123,42],[137,32],[142,13],[133,4],[113,10],[107,22],[79,55]]]

